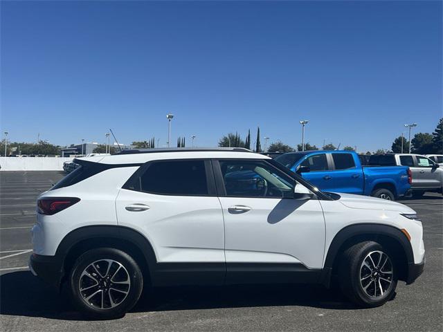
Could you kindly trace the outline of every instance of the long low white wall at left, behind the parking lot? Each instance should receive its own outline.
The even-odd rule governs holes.
[[[62,171],[63,163],[73,158],[0,157],[0,171]]]

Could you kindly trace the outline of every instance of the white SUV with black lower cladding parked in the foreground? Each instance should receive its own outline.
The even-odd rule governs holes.
[[[320,192],[246,149],[125,151],[39,196],[30,270],[92,317],[143,286],[338,280],[359,306],[422,273],[422,222],[399,203]]]

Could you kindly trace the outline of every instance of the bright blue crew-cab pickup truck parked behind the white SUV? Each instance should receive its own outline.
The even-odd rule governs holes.
[[[289,152],[275,160],[325,192],[395,199],[410,190],[412,175],[404,166],[361,166],[353,151]]]

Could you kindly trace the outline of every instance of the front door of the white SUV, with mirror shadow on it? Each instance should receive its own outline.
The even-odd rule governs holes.
[[[214,169],[223,186],[228,283],[248,273],[249,282],[262,282],[260,272],[322,267],[325,220],[318,200],[293,199],[293,179],[265,160],[219,160]]]

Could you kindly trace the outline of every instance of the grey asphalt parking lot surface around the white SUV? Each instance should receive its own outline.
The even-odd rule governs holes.
[[[320,286],[155,290],[119,320],[85,321],[27,268],[35,199],[63,172],[0,173],[1,331],[442,331],[443,197],[404,200],[424,225],[426,268],[379,308],[359,309]]]

